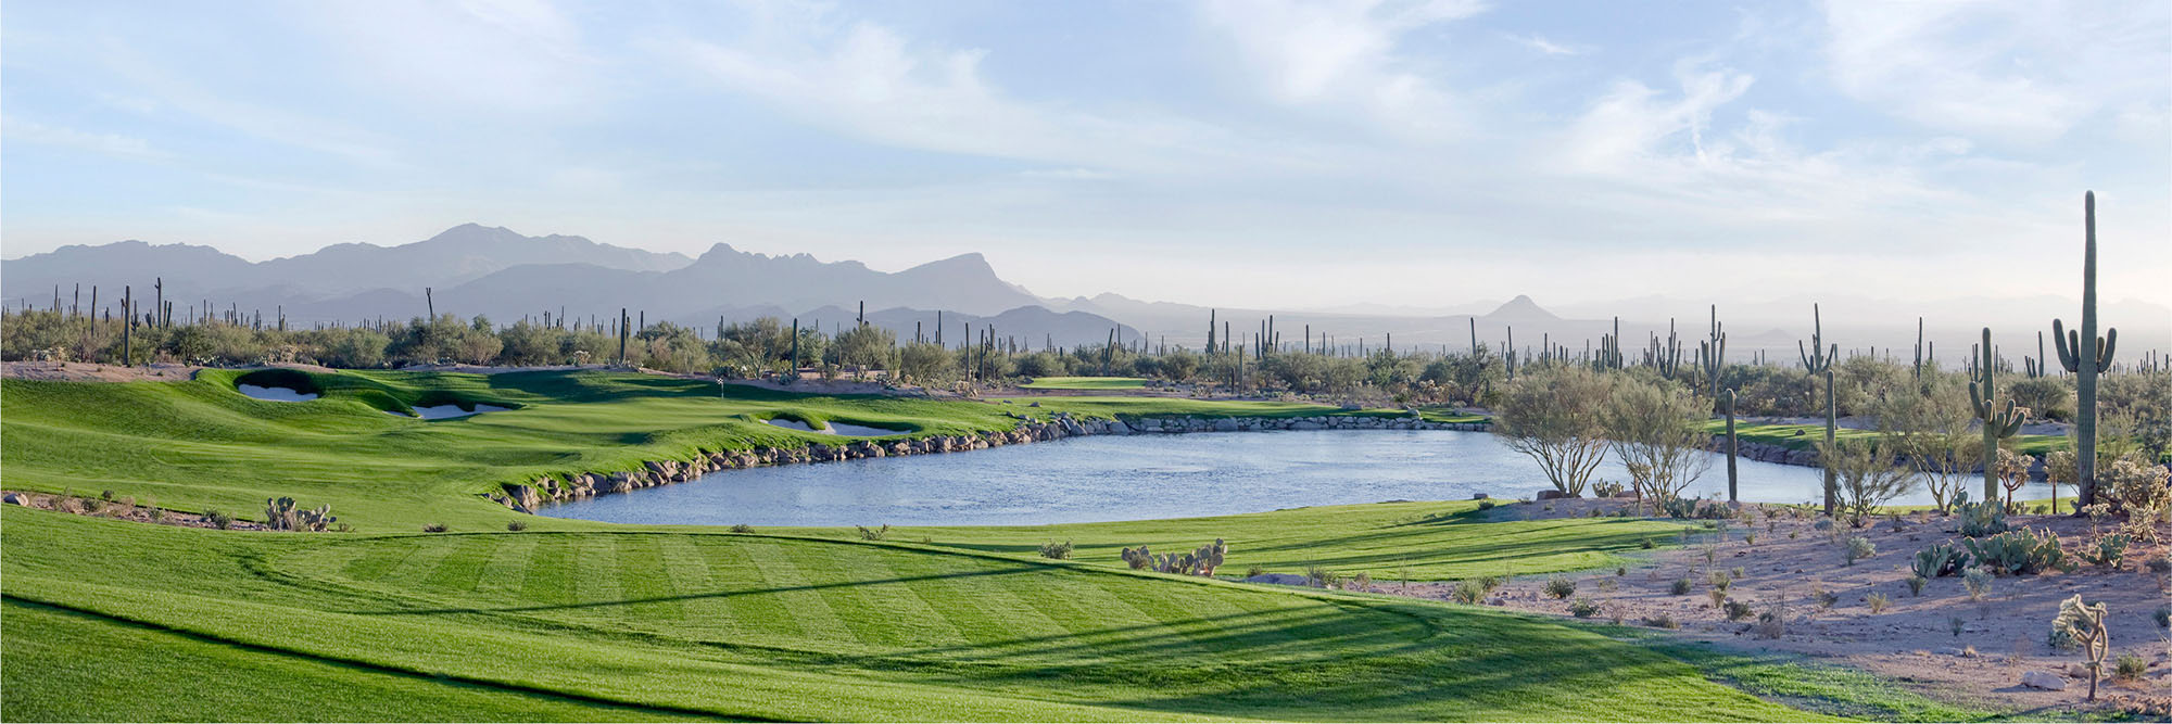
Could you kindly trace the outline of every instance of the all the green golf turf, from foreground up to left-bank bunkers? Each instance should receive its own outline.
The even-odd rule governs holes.
[[[348,691],[339,702],[354,709],[330,717],[610,720],[673,709],[791,720],[1803,717],[1707,683],[1677,659],[1557,622],[1008,555],[1056,533],[1040,529],[927,531],[995,553],[867,544],[841,531],[806,540],[530,516],[519,516],[534,525],[528,533],[384,535],[439,520],[502,529],[517,514],[473,492],[536,473],[834,442],[762,425],[767,416],[947,434],[1008,427],[1006,410],[1047,408],[760,390],[719,399],[699,382],[595,373],[317,382],[328,395],[313,403],[245,399],[224,373],[189,384],[0,382],[9,488],[111,488],[243,514],[265,496],[295,494],[332,503],[361,527],[200,531],[7,507],[0,594],[15,629],[4,639],[11,696],[0,720],[189,717],[202,709],[156,691],[193,687],[228,665],[245,670],[239,683],[204,691],[243,683]],[[382,414],[445,401],[521,410],[434,423]],[[1342,414],[1175,403],[1203,414]],[[1499,546],[1531,555],[1518,570],[1583,568],[1618,555],[1636,535],[1625,531],[1640,525],[1512,529],[1457,509],[1358,505],[1062,533],[1095,557],[1116,544],[1229,535],[1240,553],[1275,551],[1262,559],[1392,577],[1373,566],[1423,557],[1414,566],[1438,574],[1499,572],[1510,557]],[[15,635],[20,613],[30,635]],[[15,696],[104,670],[148,681],[111,698]],[[400,694],[411,687],[428,691]],[[1601,687],[1616,696],[1564,694]],[[658,711],[591,709],[597,702]],[[295,707],[306,704],[272,696],[217,717],[317,717]]]

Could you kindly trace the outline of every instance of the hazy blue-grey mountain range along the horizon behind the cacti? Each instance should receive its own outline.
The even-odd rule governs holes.
[[[463,223],[406,245],[341,243],[311,254],[250,262],[206,245],[150,245],[119,241],[70,245],[0,262],[0,293],[7,303],[48,306],[54,288],[70,303],[76,284],[85,301],[100,288],[100,306],[119,299],[130,284],[139,299],[152,297],[163,280],[176,316],[204,303],[219,310],[261,310],[267,319],[285,312],[289,325],[361,319],[411,319],[426,310],[460,316],[487,314],[506,323],[541,319],[545,312],[576,319],[608,319],[621,308],[649,321],[673,321],[708,329],[721,321],[754,316],[801,319],[823,327],[860,314],[899,338],[932,338],[940,310],[945,342],[962,342],[964,325],[1016,336],[1038,345],[1097,345],[1116,329],[1125,340],[1199,347],[1208,338],[1234,334],[1247,340],[1273,321],[1284,345],[1336,349],[1440,347],[1464,349],[1473,338],[1501,349],[1514,334],[1518,349],[1536,351],[1553,342],[1581,353],[1588,340],[1614,329],[1620,316],[1625,347],[1633,355],[1649,336],[1666,336],[1675,325],[1694,351],[1707,327],[1707,306],[1646,295],[1609,303],[1564,306],[1568,314],[1540,308],[1531,297],[1505,303],[1392,308],[1375,303],[1334,310],[1210,310],[1190,303],[1140,301],[1114,293],[1095,297],[1036,297],[1006,282],[980,254],[962,254],[904,271],[875,271],[843,260],[823,262],[808,254],[767,256],[712,245],[697,258],[595,243],[582,236],[523,236],[506,228]],[[1998,345],[2033,353],[2035,327],[2053,316],[2076,321],[2072,299],[2016,295],[1946,301],[1896,299],[1807,299],[1722,301],[1720,319],[1733,329],[1729,353],[1755,351],[1792,355],[1794,340],[1809,336],[1811,303],[1822,303],[1824,332],[1844,349],[1909,349],[1916,319],[1927,316],[1927,334],[1946,349],[1966,351],[1977,327],[1998,325]],[[1583,319],[1577,319],[1583,316]],[[1662,321],[1666,319],[1666,321]],[[2172,347],[2172,310],[2111,299],[2107,323],[2122,325],[2122,349]],[[1957,360],[1957,353],[1942,355]]]

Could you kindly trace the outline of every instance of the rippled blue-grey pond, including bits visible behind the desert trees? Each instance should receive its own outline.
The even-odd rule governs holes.
[[[1822,501],[1818,468],[1738,462],[1742,499]],[[1625,481],[1607,462],[1592,479]],[[1970,483],[1970,490],[1981,490]],[[1501,438],[1444,429],[1090,436],[986,451],[721,470],[545,507],[643,525],[1043,525],[1255,514],[1279,507],[1529,496],[1551,486]],[[1727,496],[1727,460],[1690,486]],[[2031,483],[2026,499],[2048,499]],[[1896,503],[1931,503],[1916,488]]]

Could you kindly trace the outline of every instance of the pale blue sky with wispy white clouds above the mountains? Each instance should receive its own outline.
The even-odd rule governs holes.
[[[0,256],[478,221],[1040,295],[2172,306],[2172,2],[50,2]]]

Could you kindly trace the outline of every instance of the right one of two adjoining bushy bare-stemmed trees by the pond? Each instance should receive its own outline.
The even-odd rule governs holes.
[[[1672,382],[1625,379],[1601,416],[1614,457],[1629,468],[1638,496],[1659,505],[1681,496],[1707,468],[1705,421],[1712,403]]]

